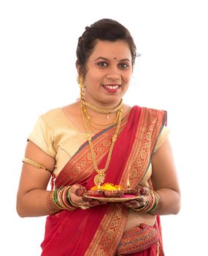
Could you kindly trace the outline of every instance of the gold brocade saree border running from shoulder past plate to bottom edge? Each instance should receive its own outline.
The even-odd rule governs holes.
[[[138,187],[150,165],[156,141],[166,122],[166,111],[142,108],[131,152],[123,170],[120,184]],[[128,208],[112,204],[104,215],[85,256],[112,256],[123,236]]]

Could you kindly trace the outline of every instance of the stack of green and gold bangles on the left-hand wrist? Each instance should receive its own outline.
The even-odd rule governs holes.
[[[57,187],[53,192],[53,202],[55,206],[61,208],[61,210],[74,211],[78,208],[70,198],[70,189],[72,186],[68,187]]]

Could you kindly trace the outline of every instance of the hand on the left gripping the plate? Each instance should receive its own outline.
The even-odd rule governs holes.
[[[106,204],[106,203],[101,203],[99,200],[83,197],[82,195],[84,195],[85,192],[87,192],[85,187],[83,187],[80,184],[74,184],[70,189],[70,195],[69,195],[72,203],[74,203],[74,205],[82,209],[87,209],[93,206]]]

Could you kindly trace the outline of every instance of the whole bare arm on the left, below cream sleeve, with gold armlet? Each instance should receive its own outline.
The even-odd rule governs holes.
[[[26,157],[41,163],[47,170],[54,169],[55,159],[31,141],[28,141],[26,146]],[[52,192],[47,191],[47,184],[50,181],[50,172],[47,170],[23,163],[17,196],[17,211],[20,217],[44,216],[60,211],[55,205],[50,208],[48,203],[52,198]]]

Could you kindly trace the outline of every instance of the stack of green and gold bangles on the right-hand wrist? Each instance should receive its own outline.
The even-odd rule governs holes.
[[[145,213],[150,214],[152,211],[157,208],[159,203],[159,196],[158,193],[156,193],[153,190],[150,190],[150,199],[145,203],[144,206],[140,206],[139,208],[133,208],[131,207],[134,211],[143,211]]]

